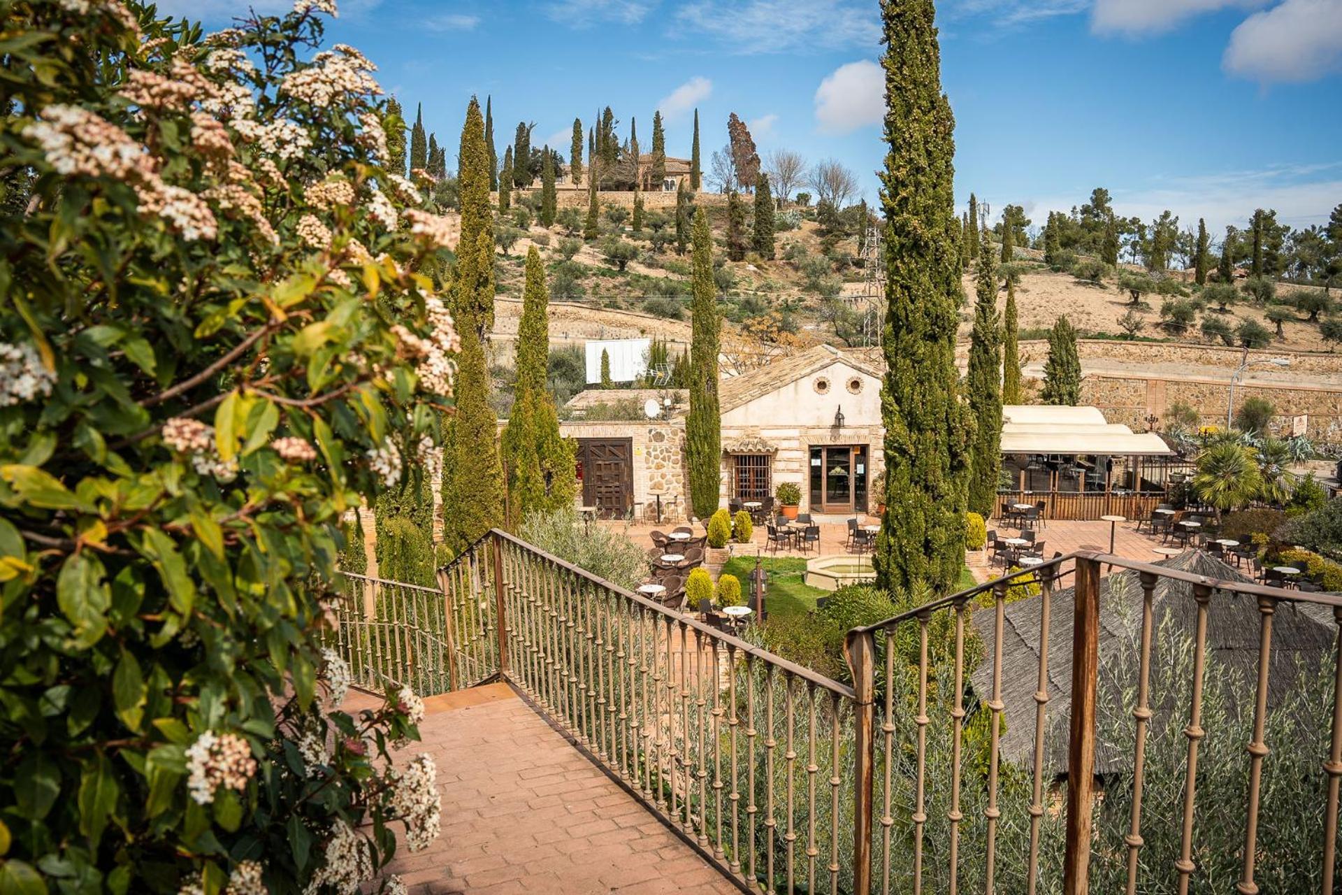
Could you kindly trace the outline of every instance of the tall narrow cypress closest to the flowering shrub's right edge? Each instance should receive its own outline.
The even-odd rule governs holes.
[[[488,152],[480,103],[471,97],[462,127],[462,239],[456,247],[452,317],[462,341],[458,354],[454,458],[446,466],[443,537],[460,553],[503,521],[503,474],[498,420],[490,408],[484,342],[494,327],[494,215],[490,211]]]

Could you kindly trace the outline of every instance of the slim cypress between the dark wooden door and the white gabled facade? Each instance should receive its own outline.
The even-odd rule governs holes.
[[[684,420],[686,466],[690,470],[690,506],[707,519],[718,509],[722,468],[722,419],[718,411],[719,327],[717,288],[713,284],[713,235],[709,215],[694,215],[694,252],[690,260],[690,413]]]

